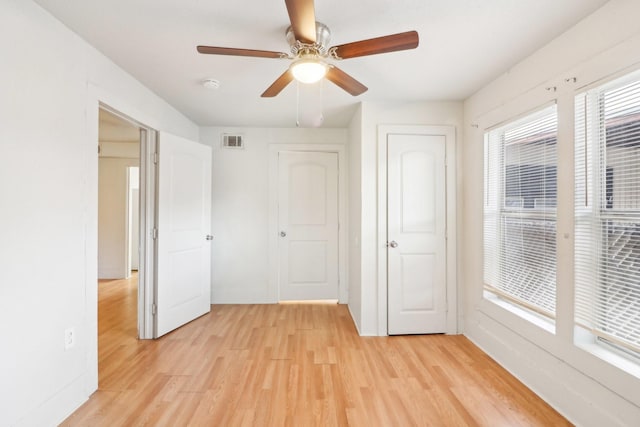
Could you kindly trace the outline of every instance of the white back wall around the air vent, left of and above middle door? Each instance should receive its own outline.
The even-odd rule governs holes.
[[[244,149],[222,148],[222,133],[244,135]],[[340,144],[346,129],[202,128],[213,148],[212,303],[273,303],[269,286],[269,146]]]

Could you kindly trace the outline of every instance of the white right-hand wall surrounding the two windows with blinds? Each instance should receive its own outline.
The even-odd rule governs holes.
[[[573,116],[573,97],[580,87],[633,64],[638,67],[638,16],[637,0],[612,0],[465,101],[465,206],[459,211],[465,334],[572,422],[584,426],[638,425],[640,379],[573,344],[573,123],[566,118]],[[565,117],[558,130],[558,212],[564,214],[558,220],[555,334],[483,300],[481,255],[483,133],[553,100]]]

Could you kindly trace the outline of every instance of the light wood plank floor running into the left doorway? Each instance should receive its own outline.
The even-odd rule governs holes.
[[[100,283],[99,390],[65,426],[556,426],[463,336],[360,337],[343,305],[215,305],[136,339],[135,285]]]

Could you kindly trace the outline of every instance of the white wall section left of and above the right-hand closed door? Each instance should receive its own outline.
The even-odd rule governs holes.
[[[357,122],[352,123],[352,128],[360,127],[360,247],[355,247],[353,238],[350,241],[351,250],[359,252],[360,256],[360,280],[352,283],[351,289],[360,290],[359,296],[350,294],[350,301],[354,301],[351,308],[355,316],[359,312],[359,318],[355,319],[360,334],[379,335],[383,328],[379,324],[378,306],[378,125],[453,125],[456,131],[462,127],[462,103],[461,102],[413,102],[413,103],[369,103],[361,105],[361,117],[357,115],[355,120],[361,120],[361,126]],[[353,141],[350,142],[353,144]],[[356,142],[357,145],[357,142]],[[353,148],[352,148],[353,150]],[[357,148],[356,148],[357,151]],[[354,160],[352,160],[354,161]],[[352,172],[352,174],[355,172]],[[354,179],[354,178],[352,178]],[[458,180],[461,182],[461,180]],[[352,192],[358,189],[352,188]],[[355,201],[356,203],[358,200]],[[461,206],[459,201],[458,206]],[[354,209],[353,206],[351,209]],[[356,224],[357,225],[357,224]],[[351,235],[358,233],[351,229]],[[460,246],[460,245],[458,245]],[[353,261],[351,267],[354,268]],[[357,267],[356,267],[357,268]],[[355,278],[354,278],[355,280]],[[355,305],[359,302],[359,307]]]

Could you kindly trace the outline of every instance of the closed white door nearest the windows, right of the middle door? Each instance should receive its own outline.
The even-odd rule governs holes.
[[[388,331],[446,332],[446,139],[387,139]]]

